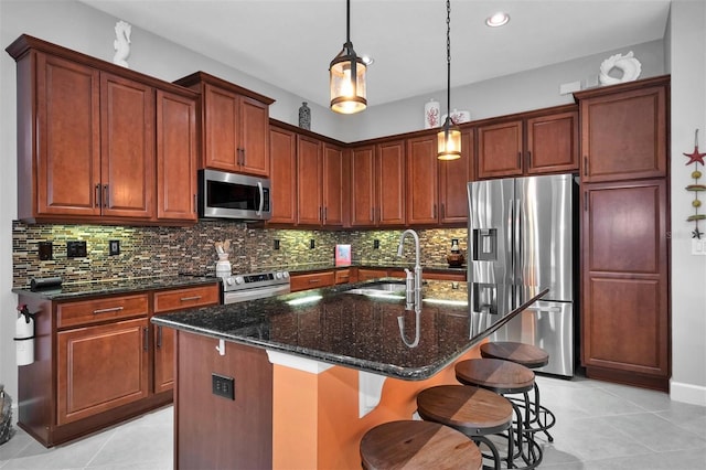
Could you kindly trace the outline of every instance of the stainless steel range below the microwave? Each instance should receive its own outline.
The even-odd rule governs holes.
[[[288,271],[223,276],[223,303],[275,297],[290,291]]]

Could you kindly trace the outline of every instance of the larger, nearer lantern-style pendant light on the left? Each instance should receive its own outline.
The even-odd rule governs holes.
[[[332,110],[352,115],[367,107],[365,71],[365,63],[355,55],[351,43],[351,0],[346,0],[345,44],[329,65]]]

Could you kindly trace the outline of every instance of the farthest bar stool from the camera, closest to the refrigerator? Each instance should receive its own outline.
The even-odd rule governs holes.
[[[512,341],[499,341],[492,343],[483,343],[481,345],[481,356],[490,359],[502,359],[516,364],[522,364],[528,368],[544,367],[549,363],[549,354],[542,348],[533,344],[516,343]],[[533,412],[531,418],[532,429],[543,431],[549,442],[554,441],[554,437],[547,429],[556,424],[556,416],[539,402],[539,386],[534,383],[534,400],[532,400]]]

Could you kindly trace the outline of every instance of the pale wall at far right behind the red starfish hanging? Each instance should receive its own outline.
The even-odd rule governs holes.
[[[672,73],[672,383],[675,400],[706,405],[706,256],[692,255],[694,195],[684,186],[694,182],[695,164],[683,153],[706,152],[706,3],[672,3],[667,57]],[[699,164],[706,180],[706,169]],[[704,204],[706,197],[700,196]],[[699,211],[704,213],[704,209]],[[706,224],[699,228],[706,232]]]

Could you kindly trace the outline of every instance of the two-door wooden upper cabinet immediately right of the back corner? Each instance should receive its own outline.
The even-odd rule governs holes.
[[[351,151],[351,226],[405,225],[405,140]]]

